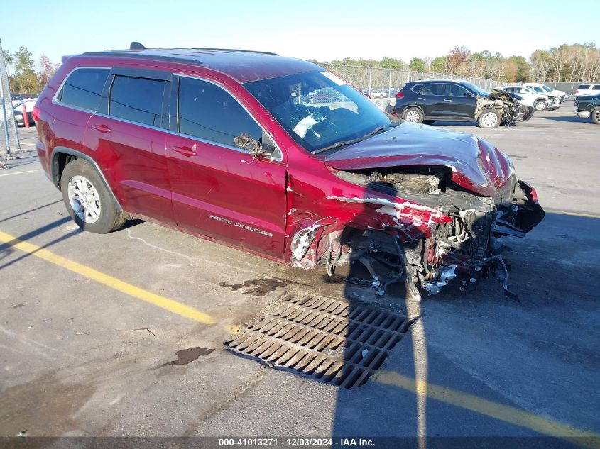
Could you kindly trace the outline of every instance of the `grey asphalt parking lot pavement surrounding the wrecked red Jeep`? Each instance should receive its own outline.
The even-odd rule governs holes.
[[[552,436],[599,447],[600,126],[569,102],[511,127],[441,126],[489,140],[538,189],[547,215],[508,255],[520,303],[493,279],[421,304],[398,291],[376,299],[323,270],[141,221],[84,233],[35,153],[9,161],[0,436]],[[33,150],[35,130],[20,133]],[[369,382],[340,389],[224,346],[288,292],[420,318]]]

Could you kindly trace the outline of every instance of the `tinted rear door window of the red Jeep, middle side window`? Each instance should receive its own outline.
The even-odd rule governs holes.
[[[143,125],[160,126],[165,81],[136,77],[114,77],[109,115]]]

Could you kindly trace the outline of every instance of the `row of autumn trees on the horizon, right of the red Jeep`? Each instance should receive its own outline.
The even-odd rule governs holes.
[[[316,61],[315,61],[316,62]],[[357,65],[384,69],[439,72],[462,77],[495,79],[504,82],[586,82],[600,80],[600,48],[595,43],[563,44],[535,50],[528,60],[523,56],[504,57],[488,50],[471,52],[464,46],[454,47],[447,55],[413,57],[408,62],[393,57],[366,60],[344,57],[325,62],[332,65]]]

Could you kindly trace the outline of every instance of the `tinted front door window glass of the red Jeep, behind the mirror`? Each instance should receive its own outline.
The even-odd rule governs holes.
[[[201,79],[180,77],[179,132],[234,146],[234,138],[249,134],[261,141],[263,130],[221,87]]]

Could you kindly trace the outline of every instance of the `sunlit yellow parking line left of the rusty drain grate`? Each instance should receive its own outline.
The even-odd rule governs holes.
[[[49,250],[40,248],[38,245],[33,245],[33,243],[18,240],[18,238],[15,238],[12,235],[2,231],[0,231],[0,243],[6,243],[13,248],[24,251],[25,253],[34,255],[36,257],[40,257],[40,259],[75,272],[77,275],[92,279],[96,282],[99,282],[99,284],[106,285],[107,287],[111,287],[111,289],[115,289],[118,292],[122,292],[124,294],[128,294],[129,296],[133,296],[134,298],[146,301],[157,307],[168,310],[173,314],[185,316],[185,318],[190,318],[190,320],[203,324],[214,324],[216,322],[211,316],[204,314],[193,307],[186,306],[185,304],[174,301],[173,299],[165,298],[165,296],[148,292],[147,290],[136,287],[135,285],[87,267],[86,265],[82,265],[73,260],[69,260],[66,257],[56,255]]]

